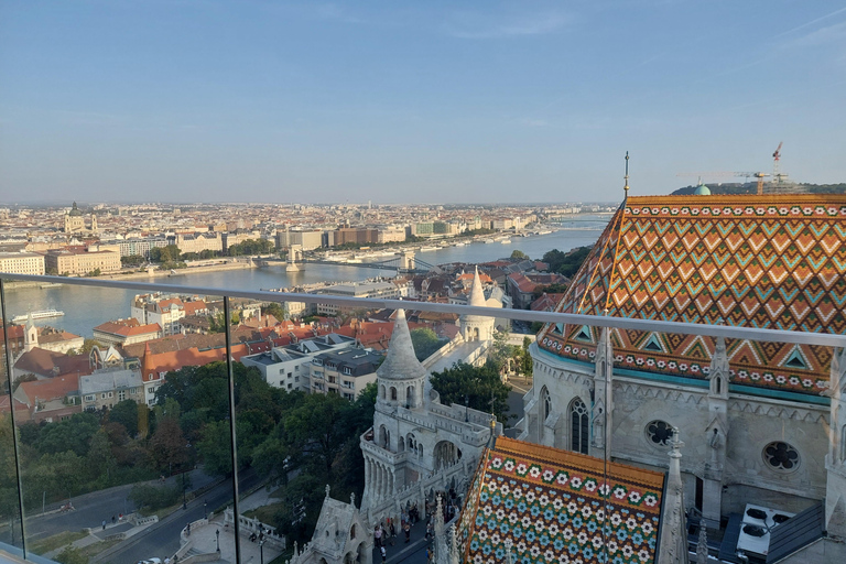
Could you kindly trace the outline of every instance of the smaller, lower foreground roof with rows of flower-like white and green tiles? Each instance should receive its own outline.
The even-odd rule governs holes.
[[[500,436],[482,454],[457,539],[466,564],[654,562],[664,475]],[[607,516],[607,517],[606,517]],[[606,553],[607,551],[607,553]]]

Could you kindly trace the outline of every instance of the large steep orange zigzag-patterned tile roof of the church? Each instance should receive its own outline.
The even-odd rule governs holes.
[[[558,312],[846,334],[846,196],[630,197]],[[707,377],[714,339],[612,330],[615,366]],[[547,326],[541,348],[593,361],[598,330]],[[733,382],[818,393],[831,350],[727,341]]]

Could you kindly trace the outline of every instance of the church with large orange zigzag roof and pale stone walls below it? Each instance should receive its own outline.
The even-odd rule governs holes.
[[[843,335],[844,225],[844,196],[630,197],[556,311]],[[846,535],[842,351],[565,324],[530,351],[521,438],[659,469],[677,427],[708,527],[824,499]]]

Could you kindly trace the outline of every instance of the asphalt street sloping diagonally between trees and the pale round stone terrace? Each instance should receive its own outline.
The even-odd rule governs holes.
[[[241,476],[239,491],[243,492],[254,488],[261,482],[261,477],[254,473],[245,473]],[[126,564],[140,560],[158,556],[164,561],[165,556],[173,555],[180,549],[180,532],[189,522],[205,517],[206,510],[212,511],[225,503],[231,503],[232,482],[225,480],[212,488],[206,495],[191,501],[186,510],[176,510],[143,532],[127,539],[119,550],[105,555],[102,558],[93,558],[94,562],[108,564]]]

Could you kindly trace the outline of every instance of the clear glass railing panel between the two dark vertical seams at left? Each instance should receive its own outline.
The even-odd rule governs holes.
[[[203,536],[215,552],[202,525],[219,512],[224,530],[234,498],[230,480],[206,471],[216,451],[204,451],[229,444],[205,429],[228,417],[221,299],[52,283],[6,295],[24,332],[13,387],[25,408],[17,425],[28,553],[164,561]],[[195,397],[205,403],[188,404]]]

